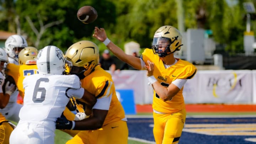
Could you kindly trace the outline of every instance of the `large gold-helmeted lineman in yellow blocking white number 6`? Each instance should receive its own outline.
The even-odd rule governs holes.
[[[57,129],[71,129],[66,123],[73,123],[75,130],[81,130],[67,144],[127,144],[128,127],[124,109],[116,96],[111,75],[98,63],[96,44],[90,41],[74,43],[65,57],[69,73],[78,75],[81,86],[97,98],[89,118],[81,121],[57,119]],[[85,109],[85,114],[90,114],[90,108]]]

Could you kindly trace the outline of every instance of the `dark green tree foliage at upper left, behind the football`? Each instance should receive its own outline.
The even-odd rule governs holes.
[[[95,26],[108,27],[116,21],[115,6],[112,2],[101,0],[100,3],[94,0],[17,0],[1,1],[2,9],[0,12],[1,23],[8,21],[13,26],[2,27],[2,30],[17,32],[15,28],[15,17],[19,16],[22,34],[27,35],[29,45],[34,46],[37,39],[32,31],[26,17],[29,17],[37,31],[42,25],[47,25],[55,21],[63,20],[59,25],[47,28],[42,34],[38,49],[47,45],[54,45],[65,51],[74,42],[82,39],[92,39]],[[93,6],[98,10],[98,18],[94,23],[85,25],[76,17],[78,9],[84,5]],[[102,11],[104,9],[105,11]],[[8,14],[8,15],[7,15]],[[11,30],[10,30],[11,29]]]

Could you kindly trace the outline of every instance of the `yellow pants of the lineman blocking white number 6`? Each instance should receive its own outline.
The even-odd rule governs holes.
[[[107,124],[97,130],[81,130],[66,144],[127,144],[128,127],[125,121]]]

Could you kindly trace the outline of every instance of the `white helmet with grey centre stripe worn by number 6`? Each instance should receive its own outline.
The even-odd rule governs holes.
[[[38,52],[37,68],[39,74],[62,75],[65,70],[65,58],[62,50],[55,46],[46,46]]]

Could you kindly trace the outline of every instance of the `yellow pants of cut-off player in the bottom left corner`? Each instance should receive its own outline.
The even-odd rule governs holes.
[[[3,122],[0,125],[0,144],[9,144],[9,138],[12,130],[14,129],[8,122]]]

